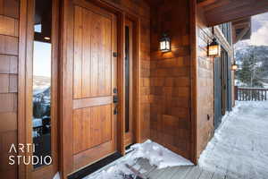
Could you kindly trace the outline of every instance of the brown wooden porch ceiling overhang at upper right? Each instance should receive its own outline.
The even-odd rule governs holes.
[[[268,12],[267,0],[197,0],[208,26]]]

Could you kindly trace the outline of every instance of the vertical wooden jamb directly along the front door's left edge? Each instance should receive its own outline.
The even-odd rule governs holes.
[[[72,172],[73,158],[72,158],[72,97],[73,89],[73,4],[70,1],[63,1],[63,15],[62,15],[62,40],[60,43],[61,48],[61,90],[63,91],[60,96],[61,100],[61,161],[60,170],[62,171],[62,177],[67,178],[67,175]],[[68,46],[66,46],[68,44]],[[67,123],[63,123],[64,122]]]

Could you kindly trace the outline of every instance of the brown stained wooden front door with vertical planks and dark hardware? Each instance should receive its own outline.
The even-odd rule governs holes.
[[[73,170],[115,152],[116,19],[92,4],[74,5]]]

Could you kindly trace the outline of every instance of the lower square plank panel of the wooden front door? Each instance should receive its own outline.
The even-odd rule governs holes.
[[[111,112],[111,105],[88,107],[74,111],[73,148],[75,154],[111,141]]]

